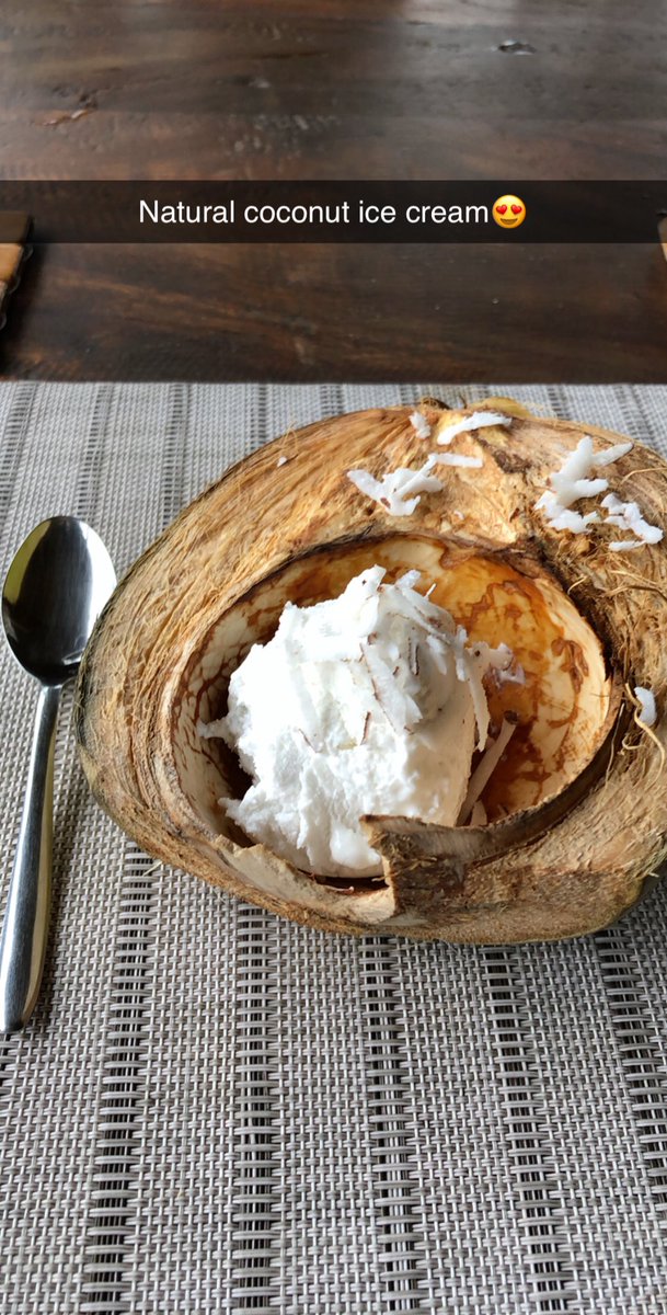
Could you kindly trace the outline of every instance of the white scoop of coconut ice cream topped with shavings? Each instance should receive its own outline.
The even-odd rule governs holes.
[[[230,680],[222,736],[252,778],[221,802],[257,842],[323,876],[382,871],[365,814],[454,826],[475,750],[488,735],[482,675],[507,669],[507,646],[467,644],[419,593],[419,572],[356,576],[337,597],[288,602],[274,636]]]

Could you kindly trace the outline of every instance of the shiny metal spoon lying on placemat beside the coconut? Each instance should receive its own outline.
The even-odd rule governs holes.
[[[21,828],[0,940],[0,1032],[30,1018],[39,992],[51,894],[55,723],[95,621],[116,585],[112,559],[74,515],[42,521],[18,548],[3,589],[14,658],[41,685]]]

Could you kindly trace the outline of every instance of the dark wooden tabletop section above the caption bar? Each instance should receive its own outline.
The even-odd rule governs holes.
[[[38,0],[8,29],[5,176],[664,170],[660,0],[604,21],[562,0],[520,21],[509,3],[62,8],[70,22]],[[534,54],[500,53],[507,37]]]

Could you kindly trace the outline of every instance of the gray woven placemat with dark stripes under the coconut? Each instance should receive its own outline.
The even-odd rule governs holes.
[[[507,391],[667,454],[667,388]],[[288,425],[421,392],[461,393],[4,384],[0,564],[75,512],[123,569]],[[33,707],[3,652],[5,885]],[[667,1311],[666,890],[557,945],[307,931],[140,853],[70,714],[45,989],[0,1039],[3,1315]]]

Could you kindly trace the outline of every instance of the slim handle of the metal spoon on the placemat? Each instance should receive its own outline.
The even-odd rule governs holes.
[[[17,1032],[39,992],[51,901],[55,722],[60,685],[42,685],[0,940],[0,1032]]]

